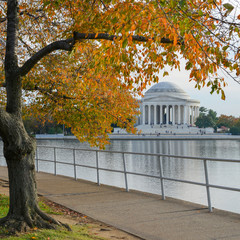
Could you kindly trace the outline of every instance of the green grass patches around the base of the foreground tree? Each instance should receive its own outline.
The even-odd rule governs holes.
[[[54,211],[50,206],[43,201],[39,202],[42,211],[47,214],[63,215],[64,213]],[[0,194],[0,218],[5,217],[8,213],[9,198]],[[65,228],[59,227],[57,230],[48,229],[32,229],[28,233],[17,234],[9,236],[6,229],[0,227],[0,239],[7,240],[101,240],[97,236],[89,234],[89,227],[87,224],[71,226],[72,231],[67,231]]]

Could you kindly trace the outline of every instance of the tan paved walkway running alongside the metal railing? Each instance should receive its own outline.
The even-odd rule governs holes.
[[[0,179],[7,170],[0,167]],[[240,215],[208,210],[157,195],[97,186],[37,173],[38,192],[48,199],[147,240],[239,240]]]

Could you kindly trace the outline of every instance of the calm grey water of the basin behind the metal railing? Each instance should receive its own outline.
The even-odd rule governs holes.
[[[0,143],[1,144],[1,143]],[[86,143],[77,140],[39,140],[38,145],[89,148]],[[239,140],[112,140],[106,150],[163,153],[173,155],[240,159]],[[56,150],[57,160],[73,163],[73,151]],[[53,149],[40,148],[38,157],[54,159]],[[76,151],[76,163],[96,166],[95,152]],[[1,159],[1,164],[4,164]],[[205,182],[202,161],[162,158],[163,174],[165,177],[190,181]],[[102,168],[123,170],[121,154],[100,153],[99,166]],[[127,171],[159,176],[159,160],[156,157],[126,155]],[[39,163],[39,170],[54,172],[53,163]],[[208,162],[209,181],[211,184],[240,188],[240,164]],[[57,172],[61,175],[73,176],[73,166],[59,164]],[[96,181],[96,170],[77,167],[77,177]],[[100,171],[102,184],[125,187],[122,173]],[[159,179],[128,175],[129,189],[161,194]],[[183,199],[207,205],[206,188],[191,184],[164,182],[166,196]],[[212,206],[215,208],[240,213],[240,193],[211,188]]]

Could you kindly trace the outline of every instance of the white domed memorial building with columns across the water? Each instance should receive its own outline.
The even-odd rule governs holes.
[[[194,126],[199,116],[200,102],[171,82],[152,86],[140,102],[138,124],[144,128],[156,126]]]

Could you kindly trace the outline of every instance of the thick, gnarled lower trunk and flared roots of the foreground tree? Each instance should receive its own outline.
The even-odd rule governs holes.
[[[14,116],[10,119],[7,117],[6,120],[5,130],[8,129],[8,134],[1,135],[8,166],[10,207],[8,215],[0,219],[0,225],[11,233],[26,231],[33,227],[54,229],[57,225],[63,225],[43,213],[38,207],[35,139],[28,136],[21,120]],[[3,133],[2,129],[0,133]],[[64,226],[69,229],[68,226]]]

